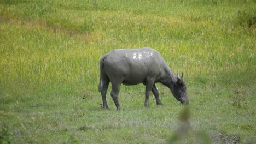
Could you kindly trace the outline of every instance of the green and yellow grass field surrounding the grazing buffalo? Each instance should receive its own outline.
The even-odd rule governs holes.
[[[1,0],[0,143],[256,143],[255,21],[254,0]],[[101,56],[146,46],[190,104],[137,85],[102,109]]]

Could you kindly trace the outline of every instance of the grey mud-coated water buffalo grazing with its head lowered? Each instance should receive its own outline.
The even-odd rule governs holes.
[[[174,97],[182,104],[188,104],[185,82],[177,76],[166,64],[161,54],[151,48],[142,49],[115,49],[104,55],[100,60],[100,83],[103,108],[107,109],[106,93],[109,82],[112,83],[110,93],[118,110],[121,109],[118,101],[120,85],[146,85],[145,106],[148,106],[150,91],[153,92],[156,104],[161,105],[158,89],[155,83],[160,82],[171,89]]]

